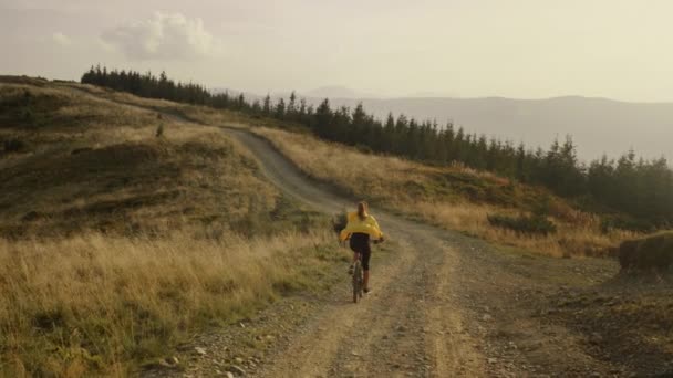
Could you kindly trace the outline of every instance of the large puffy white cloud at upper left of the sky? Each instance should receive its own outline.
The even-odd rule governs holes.
[[[161,13],[103,32],[103,41],[132,60],[191,60],[215,52],[215,40],[199,18]]]

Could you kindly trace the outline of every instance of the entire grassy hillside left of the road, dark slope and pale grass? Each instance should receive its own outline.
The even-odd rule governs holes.
[[[327,220],[245,149],[87,91],[0,81],[0,376],[126,375],[329,282]]]

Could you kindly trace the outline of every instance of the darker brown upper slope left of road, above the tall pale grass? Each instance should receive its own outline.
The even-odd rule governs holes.
[[[266,216],[296,208],[217,128],[68,87],[1,90],[0,234],[268,232]]]

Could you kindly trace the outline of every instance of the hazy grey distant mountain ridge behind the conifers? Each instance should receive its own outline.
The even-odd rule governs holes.
[[[356,91],[343,87],[333,93],[349,96],[306,96],[309,104],[318,105],[325,97],[333,106],[364,108],[379,118],[389,113],[404,114],[420,120],[436,119],[441,125],[452,122],[467,133],[485,134],[528,148],[549,147],[555,138],[563,140],[570,135],[584,161],[607,154],[619,158],[633,148],[644,158],[666,157],[673,160],[673,103],[632,103],[601,97],[562,96],[543,99],[514,99],[506,97],[359,97]],[[332,91],[332,90],[330,90]],[[230,93],[239,93],[229,91]],[[307,94],[328,94],[327,90]],[[262,96],[245,93],[247,98]],[[275,98],[288,94],[273,95]],[[302,94],[299,94],[302,97]]]

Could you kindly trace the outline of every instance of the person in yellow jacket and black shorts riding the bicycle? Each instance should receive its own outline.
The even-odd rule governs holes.
[[[364,271],[364,292],[370,292],[370,258],[372,249],[370,245],[370,239],[373,238],[376,242],[384,240],[383,232],[376,222],[376,219],[367,213],[366,202],[358,203],[358,211],[349,212],[348,223],[345,229],[341,230],[339,238],[341,241],[345,241],[350,238],[350,246],[353,250],[353,264],[358,258],[362,261],[362,270]],[[349,270],[349,273],[353,273],[353,264]]]

